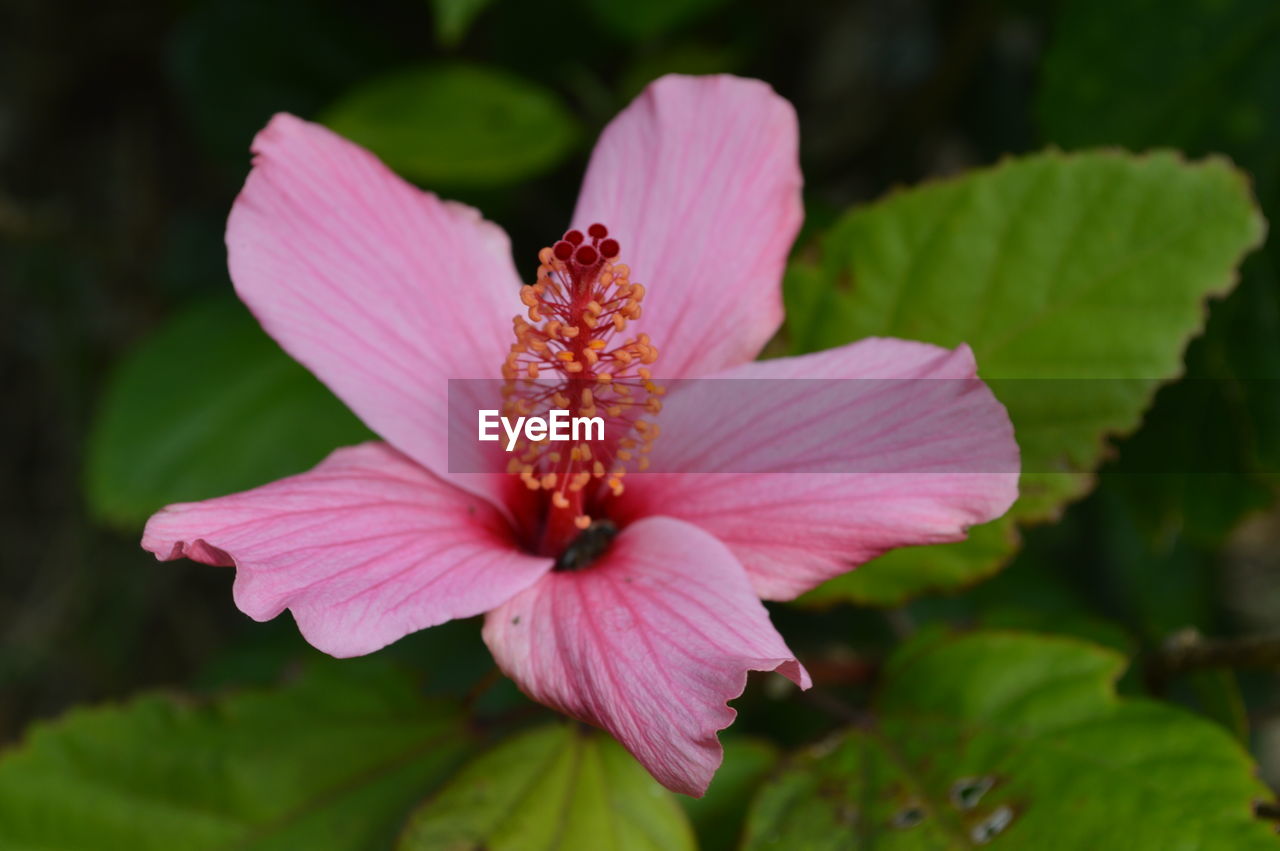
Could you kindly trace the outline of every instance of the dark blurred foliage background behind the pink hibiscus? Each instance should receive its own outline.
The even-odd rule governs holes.
[[[598,131],[668,72],[759,77],[795,104],[806,233],[1046,146],[1222,152],[1275,219],[1277,42],[1272,0],[4,0],[0,741],[72,704],[265,682],[315,656],[288,618],[241,616],[230,572],[138,549],[157,493],[266,481],[362,434],[229,297],[223,225],[273,113],[324,120],[481,207],[531,273]],[[934,623],[1083,635],[1139,659],[1125,690],[1226,726],[1280,784],[1274,659],[1171,682],[1140,663],[1188,628],[1280,631],[1276,269],[1272,248],[1251,256],[1190,346],[1189,380],[993,580],[856,613],[776,609],[815,678],[856,697],[884,648]],[[300,418],[265,413],[282,395]],[[1213,475],[1132,472],[1206,456]],[[390,655],[431,659],[444,694],[490,668],[475,624]],[[744,732],[800,744],[831,723],[751,699]]]

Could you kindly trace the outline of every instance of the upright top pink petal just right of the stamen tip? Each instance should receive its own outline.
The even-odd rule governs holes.
[[[759,81],[663,77],[604,129],[573,223],[621,241],[659,375],[745,363],[778,329],[800,187],[795,110]]]

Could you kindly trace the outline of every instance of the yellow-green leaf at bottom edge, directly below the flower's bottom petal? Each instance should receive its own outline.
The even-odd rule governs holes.
[[[417,810],[401,851],[678,851],[694,837],[673,796],[621,745],[567,724],[503,742]]]

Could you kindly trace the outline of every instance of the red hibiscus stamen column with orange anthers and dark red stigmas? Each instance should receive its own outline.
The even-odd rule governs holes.
[[[503,363],[503,415],[567,410],[572,417],[603,416],[605,441],[516,444],[508,471],[547,494],[540,552],[562,555],[593,527],[593,512],[623,490],[627,467],[644,470],[658,425],[641,418],[662,408],[663,389],[649,365],[658,349],[648,334],[627,335],[640,317],[645,289],[618,262],[621,247],[603,224],[570,230],[538,252],[538,280],[520,299],[526,316],[512,321],[516,342]],[[599,521],[607,522],[607,521]]]

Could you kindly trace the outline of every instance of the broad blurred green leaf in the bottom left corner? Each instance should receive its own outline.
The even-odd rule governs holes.
[[[388,847],[467,749],[456,710],[369,663],[210,704],[76,709],[0,760],[0,846]]]

